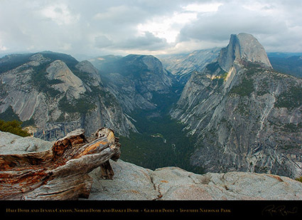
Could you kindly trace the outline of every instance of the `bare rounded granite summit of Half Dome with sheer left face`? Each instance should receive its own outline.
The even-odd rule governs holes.
[[[227,47],[220,51],[218,62],[224,70],[228,71],[234,61],[248,61],[272,68],[264,47],[249,33],[232,34]]]

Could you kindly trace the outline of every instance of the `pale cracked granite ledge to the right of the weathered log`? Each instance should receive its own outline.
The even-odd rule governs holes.
[[[119,159],[114,177],[93,178],[92,200],[301,200],[302,183],[288,177],[249,172],[194,174],[178,167],[152,171]]]

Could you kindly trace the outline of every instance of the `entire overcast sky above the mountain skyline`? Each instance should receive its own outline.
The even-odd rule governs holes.
[[[241,32],[268,52],[302,52],[301,11],[301,0],[0,0],[0,54],[183,53]]]

